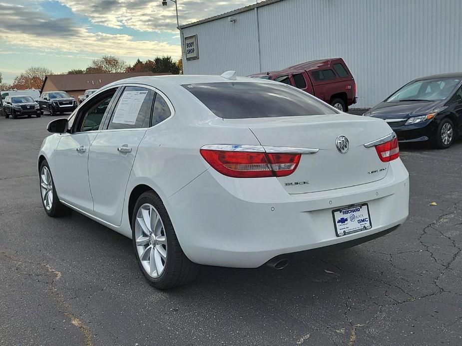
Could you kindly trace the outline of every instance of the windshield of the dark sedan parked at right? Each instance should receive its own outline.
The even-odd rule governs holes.
[[[411,82],[390,96],[387,102],[444,100],[453,94],[460,82],[458,78]]]

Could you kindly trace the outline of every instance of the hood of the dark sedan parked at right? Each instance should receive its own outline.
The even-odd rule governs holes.
[[[441,105],[442,101],[381,102],[367,113],[374,118],[402,119],[431,113]]]

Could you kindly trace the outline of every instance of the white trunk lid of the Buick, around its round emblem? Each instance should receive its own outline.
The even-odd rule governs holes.
[[[319,149],[303,154],[294,173],[278,178],[291,194],[360,185],[387,174],[389,164],[379,159],[375,148],[364,146],[392,132],[382,120],[336,114],[224,121],[250,128],[262,146]],[[336,147],[339,136],[349,141],[345,154]]]

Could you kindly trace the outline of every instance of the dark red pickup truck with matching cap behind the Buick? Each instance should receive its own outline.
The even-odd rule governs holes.
[[[342,58],[307,61],[281,71],[250,75],[290,84],[347,112],[356,103],[356,83]]]

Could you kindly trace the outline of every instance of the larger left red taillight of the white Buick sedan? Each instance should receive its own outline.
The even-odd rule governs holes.
[[[286,176],[294,173],[301,157],[301,154],[209,149],[201,149],[200,153],[216,171],[235,178]]]

